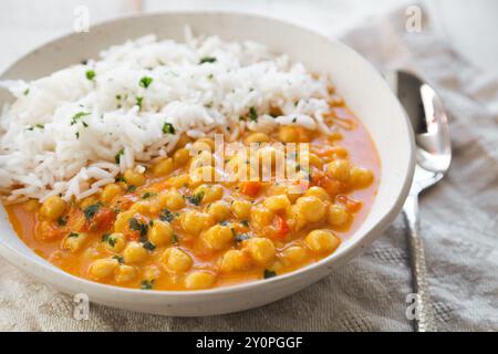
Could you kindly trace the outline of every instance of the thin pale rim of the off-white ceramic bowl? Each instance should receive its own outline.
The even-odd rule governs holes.
[[[141,13],[133,13],[133,14],[124,14],[114,17],[112,19],[106,19],[103,21],[97,21],[94,24],[91,25],[90,31],[92,29],[97,30],[101,27],[105,27],[108,24],[122,22],[122,21],[128,21],[134,20],[138,18],[148,18],[148,17],[174,17],[174,15],[225,15],[225,17],[243,17],[243,18],[252,18],[252,19],[259,19],[264,20],[268,22],[277,22],[280,25],[287,25],[291,27],[295,30],[307,32],[310,35],[319,37],[322,40],[324,40],[325,43],[330,43],[333,45],[339,46],[341,50],[344,50],[349,52],[351,55],[357,56],[359,60],[363,62],[363,64],[370,66],[370,69],[375,73],[375,75],[381,76],[376,69],[360,53],[357,53],[355,50],[350,48],[349,45],[342,43],[339,40],[328,38],[326,35],[312,30],[310,28],[290,22],[288,20],[282,19],[276,19],[269,15],[261,15],[261,14],[255,14],[255,13],[248,13],[243,11],[228,11],[228,10],[180,10],[180,11],[153,11],[153,12],[141,12]],[[65,34],[58,35],[49,41],[44,41],[41,44],[32,48],[31,50],[27,51],[24,54],[21,54],[15,60],[13,60],[10,64],[6,66],[6,69],[0,73],[0,79],[3,79],[3,76],[8,75],[9,72],[14,69],[14,66],[22,61],[23,59],[28,58],[29,55],[34,54],[40,49],[56,44],[56,42],[61,40],[66,40],[71,37],[77,35],[79,33],[70,32]],[[382,77],[381,77],[382,79]],[[390,87],[385,80],[382,80],[382,84],[385,86],[385,90],[390,91]],[[392,93],[392,92],[391,92]],[[393,97],[395,98],[393,102],[398,106],[400,112],[403,115],[405,126],[408,132],[408,138],[409,138],[409,150],[407,152],[408,155],[408,168],[406,169],[403,178],[403,186],[401,189],[401,192],[398,194],[395,201],[392,204],[391,209],[385,212],[378,220],[375,221],[374,226],[372,226],[370,229],[365,230],[365,233],[363,237],[357,239],[355,242],[351,243],[349,247],[344,249],[338,249],[338,251],[333,252],[332,254],[319,260],[318,262],[307,264],[302,268],[299,268],[294,271],[291,271],[289,273],[281,274],[279,277],[270,278],[270,279],[263,279],[263,280],[255,280],[249,281],[245,283],[237,283],[232,285],[226,285],[220,288],[214,288],[214,289],[206,289],[206,290],[141,290],[141,289],[131,289],[131,288],[123,288],[117,285],[110,285],[104,284],[100,282],[94,282],[84,278],[75,277],[71,273],[68,273],[63,271],[62,269],[58,268],[56,266],[51,264],[48,260],[41,258],[32,250],[32,257],[29,257],[27,254],[23,254],[21,251],[19,251],[15,248],[12,248],[11,246],[4,244],[3,241],[0,238],[0,256],[2,256],[7,261],[10,263],[21,268],[22,270],[27,271],[29,274],[33,275],[34,278],[41,280],[44,283],[51,283],[55,284],[58,281],[55,279],[42,279],[42,275],[39,275],[37,271],[31,270],[30,266],[33,267],[40,267],[40,272],[44,271],[52,275],[59,277],[59,281],[66,281],[68,283],[64,285],[66,289],[71,288],[77,288],[77,285],[85,287],[85,289],[90,291],[98,291],[98,292],[106,292],[108,294],[111,293],[122,293],[123,295],[141,295],[141,296],[147,296],[147,298],[155,298],[155,299],[165,299],[168,296],[188,296],[188,298],[204,298],[206,295],[220,295],[220,294],[227,294],[227,293],[235,293],[235,292],[243,292],[249,289],[264,287],[267,284],[271,283],[278,283],[278,282],[284,282],[290,280],[291,278],[298,277],[302,273],[312,272],[313,270],[325,267],[328,263],[333,263],[335,266],[341,266],[351,259],[357,257],[361,252],[364,251],[364,249],[370,246],[381,233],[383,230],[385,230],[396,218],[396,216],[400,214],[403,204],[408,196],[409,188],[412,185],[412,179],[415,170],[415,138],[413,133],[412,124],[409,123],[408,116],[406,115],[404,108],[402,107],[400,101],[395,95],[392,93]],[[374,142],[375,143],[375,142]],[[381,160],[382,164],[382,160]],[[6,220],[8,222],[8,220]],[[0,221],[1,222],[1,221]],[[14,232],[12,230],[12,232]],[[15,232],[14,232],[15,233]],[[19,236],[17,236],[19,237]],[[22,242],[22,240],[21,240]],[[10,254],[9,254],[10,253]],[[329,267],[332,267],[329,264]],[[74,287],[71,287],[74,285]],[[60,285],[55,285],[55,288],[61,288]],[[89,289],[90,288],[90,289]]]

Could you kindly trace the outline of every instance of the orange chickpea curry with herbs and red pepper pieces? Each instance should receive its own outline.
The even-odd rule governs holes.
[[[183,135],[169,157],[126,170],[98,194],[9,205],[10,220],[39,256],[112,285],[197,290],[291,272],[334,252],[376,194],[380,162],[367,132],[342,102],[332,112],[329,135],[293,124],[241,133],[261,146],[257,157],[274,154],[268,143],[309,144],[309,184],[299,192],[274,179],[205,181],[199,171],[217,174],[215,142]]]

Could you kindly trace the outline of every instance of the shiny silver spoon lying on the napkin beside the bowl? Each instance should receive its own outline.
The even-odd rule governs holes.
[[[413,288],[417,294],[415,330],[434,332],[437,326],[430,303],[424,242],[419,235],[418,195],[438,183],[449,168],[448,121],[439,97],[421,79],[405,71],[393,72],[386,79],[408,114],[415,133],[417,164],[403,212],[409,229]]]

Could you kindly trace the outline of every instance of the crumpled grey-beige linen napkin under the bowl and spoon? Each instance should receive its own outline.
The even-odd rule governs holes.
[[[498,79],[469,65],[430,28],[405,30],[404,11],[372,20],[343,40],[378,67],[407,67],[429,81],[449,112],[452,169],[421,202],[429,283],[442,331],[498,330]],[[357,259],[267,306],[211,317],[166,317],[73,299],[0,259],[1,331],[413,331],[405,227],[400,216]]]

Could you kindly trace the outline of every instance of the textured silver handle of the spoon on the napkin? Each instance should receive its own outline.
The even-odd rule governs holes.
[[[416,295],[415,330],[417,332],[436,332],[436,321],[433,313],[427,267],[425,263],[424,241],[419,233],[418,196],[411,194],[403,207],[408,226],[408,249],[412,262],[413,288]]]

